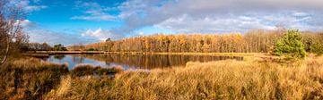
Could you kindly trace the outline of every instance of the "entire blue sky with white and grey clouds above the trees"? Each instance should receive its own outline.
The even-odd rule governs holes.
[[[17,1],[17,0],[15,0]],[[30,42],[65,46],[153,34],[323,30],[323,0],[19,0]]]

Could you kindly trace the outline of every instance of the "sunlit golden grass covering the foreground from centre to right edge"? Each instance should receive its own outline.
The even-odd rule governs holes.
[[[115,79],[63,79],[48,99],[323,99],[323,57],[296,63],[218,61],[123,71]],[[64,83],[64,82],[62,82]]]

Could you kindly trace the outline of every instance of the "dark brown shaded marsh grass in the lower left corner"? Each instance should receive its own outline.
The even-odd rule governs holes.
[[[42,98],[68,72],[65,65],[23,59],[0,68],[0,99]]]

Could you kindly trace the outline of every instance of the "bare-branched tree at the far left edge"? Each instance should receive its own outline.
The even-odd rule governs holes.
[[[3,58],[0,65],[7,59],[16,34],[22,32],[23,16],[22,6],[10,0],[0,0],[0,41],[4,47],[1,48]]]

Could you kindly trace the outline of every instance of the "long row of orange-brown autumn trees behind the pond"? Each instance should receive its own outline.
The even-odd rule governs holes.
[[[179,34],[129,37],[70,46],[69,50],[108,52],[171,52],[171,53],[268,53],[286,30],[249,30],[244,34]],[[302,44],[310,53],[323,50],[323,32],[301,32]]]

